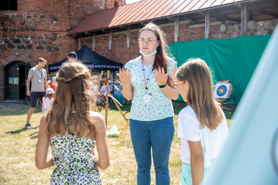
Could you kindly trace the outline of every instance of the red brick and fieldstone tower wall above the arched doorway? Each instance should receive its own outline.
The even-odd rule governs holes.
[[[18,0],[17,11],[0,10],[0,101],[4,100],[5,66],[22,58],[20,61],[29,62],[31,67],[40,57],[48,63],[66,58],[70,51],[78,49],[77,38],[66,36],[67,32],[92,12],[113,8],[111,2]]]

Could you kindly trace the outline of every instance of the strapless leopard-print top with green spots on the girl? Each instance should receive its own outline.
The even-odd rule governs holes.
[[[57,135],[49,139],[53,163],[56,165],[50,184],[101,184],[93,155],[95,139],[70,135]]]

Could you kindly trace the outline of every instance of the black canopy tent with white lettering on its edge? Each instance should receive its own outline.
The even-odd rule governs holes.
[[[118,71],[119,68],[123,67],[122,63],[117,63],[112,60],[109,60],[96,52],[92,51],[87,46],[83,46],[77,53],[77,58],[80,60],[85,66],[88,68],[95,69],[97,71]],[[56,62],[54,64],[48,65],[48,71],[56,72],[61,67],[62,63],[66,62],[67,58],[64,58],[63,60]]]

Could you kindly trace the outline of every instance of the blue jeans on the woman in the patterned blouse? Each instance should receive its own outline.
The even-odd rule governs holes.
[[[151,148],[156,185],[170,184],[169,155],[174,137],[173,117],[154,121],[130,119],[130,135],[137,162],[137,184],[151,184]]]

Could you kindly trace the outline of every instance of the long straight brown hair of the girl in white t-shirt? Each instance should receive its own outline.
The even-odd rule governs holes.
[[[187,103],[194,110],[200,127],[216,129],[223,116],[221,107],[213,96],[213,83],[208,65],[200,58],[188,59],[177,71],[180,81],[188,81]]]

